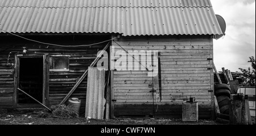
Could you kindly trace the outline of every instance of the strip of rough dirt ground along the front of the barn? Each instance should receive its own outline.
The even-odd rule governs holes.
[[[36,110],[2,110],[0,125],[220,125],[213,120],[183,122],[181,118],[114,118],[110,120],[94,120],[79,118],[38,117]]]

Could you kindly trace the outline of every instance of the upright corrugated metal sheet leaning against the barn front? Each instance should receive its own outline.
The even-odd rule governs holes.
[[[105,70],[98,70],[97,67],[88,67],[85,117],[103,119],[105,88]]]

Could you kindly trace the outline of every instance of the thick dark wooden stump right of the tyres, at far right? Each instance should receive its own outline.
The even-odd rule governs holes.
[[[230,124],[251,125],[251,115],[247,95],[230,95],[229,102]]]

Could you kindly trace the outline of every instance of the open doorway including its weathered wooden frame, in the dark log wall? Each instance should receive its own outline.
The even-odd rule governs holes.
[[[48,60],[45,54],[15,56],[14,105],[18,108],[41,107],[35,100],[19,91],[20,88],[46,105],[48,97]]]

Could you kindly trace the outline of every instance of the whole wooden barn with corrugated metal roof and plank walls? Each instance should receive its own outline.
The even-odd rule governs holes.
[[[199,117],[210,118],[221,34],[210,0],[0,0],[0,108],[42,107],[17,88],[60,104],[110,45],[112,117],[180,118],[182,102],[195,97]],[[70,96],[81,111],[86,80]]]

